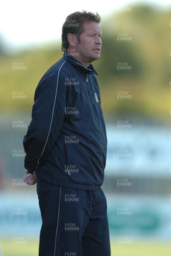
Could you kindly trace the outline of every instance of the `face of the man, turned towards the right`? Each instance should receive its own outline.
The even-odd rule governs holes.
[[[83,24],[84,32],[80,35],[80,41],[76,41],[75,48],[78,53],[77,59],[88,67],[88,65],[100,58],[102,31],[99,23],[95,21]]]

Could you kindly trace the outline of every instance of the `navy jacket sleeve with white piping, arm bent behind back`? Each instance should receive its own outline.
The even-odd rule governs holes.
[[[33,173],[46,160],[59,137],[65,116],[66,87],[58,76],[41,79],[37,86],[32,120],[24,136],[25,168]]]

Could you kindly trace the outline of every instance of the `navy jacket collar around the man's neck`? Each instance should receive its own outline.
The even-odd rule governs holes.
[[[85,74],[93,73],[93,74],[96,74],[97,76],[99,75],[97,73],[97,71],[94,70],[93,65],[90,64],[88,67],[85,67],[80,61],[77,61],[73,56],[69,55],[69,53],[66,51],[63,54],[63,58],[65,60],[68,60],[69,62],[71,62],[71,64],[76,66],[78,69],[80,69]]]

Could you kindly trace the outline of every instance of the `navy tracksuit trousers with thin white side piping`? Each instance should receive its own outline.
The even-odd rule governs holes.
[[[106,198],[102,191],[37,181],[42,215],[39,256],[110,256]]]

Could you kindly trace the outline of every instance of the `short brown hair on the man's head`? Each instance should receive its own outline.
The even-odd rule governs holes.
[[[68,43],[68,34],[74,34],[77,36],[77,39],[80,39],[80,35],[83,33],[84,28],[83,24],[85,22],[89,21],[95,21],[97,23],[100,23],[100,15],[96,12],[94,14],[93,12],[74,12],[70,14],[66,21],[63,23],[62,28],[62,51],[64,52],[65,49],[68,49],[69,43]]]

